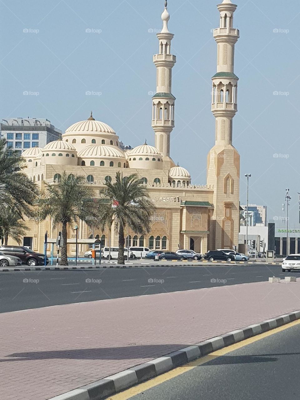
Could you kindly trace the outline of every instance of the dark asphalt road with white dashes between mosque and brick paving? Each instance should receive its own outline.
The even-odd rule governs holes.
[[[0,273],[0,312],[233,285],[283,277],[266,264]]]

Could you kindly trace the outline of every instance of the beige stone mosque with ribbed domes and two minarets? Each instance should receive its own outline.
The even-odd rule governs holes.
[[[237,83],[234,74],[234,45],[239,37],[233,28],[236,5],[230,0],[219,4],[220,27],[214,30],[218,46],[217,73],[212,78],[212,112],[216,118],[215,145],[208,154],[207,184],[191,184],[189,172],[175,165],[170,157],[170,135],[174,128],[172,68],[176,56],[171,54],[173,34],[168,30],[170,15],[162,13],[163,28],[157,34],[159,52],[154,56],[157,68],[156,94],[152,102],[152,127],[155,147],[141,144],[132,150],[122,150],[113,128],[91,116],[76,122],[62,135],[62,140],[50,142],[44,148],[24,151],[27,173],[40,189],[44,182],[56,184],[63,171],[86,176],[97,196],[105,180],[113,180],[116,172],[124,176],[138,174],[148,188],[156,211],[151,216],[151,232],[130,235],[132,246],[151,249],[178,250],[192,248],[204,253],[208,249],[238,246],[239,231],[239,170],[240,156],[232,145],[232,118],[237,111]],[[198,160],[195,160],[198,163]],[[59,227],[52,221],[30,224],[26,238],[33,250],[43,251],[44,234],[56,238]],[[69,238],[74,238],[69,227]],[[112,229],[100,232],[80,221],[79,238],[100,238],[102,244],[118,244]],[[80,244],[79,254],[87,245]],[[68,254],[75,253],[70,244]]]

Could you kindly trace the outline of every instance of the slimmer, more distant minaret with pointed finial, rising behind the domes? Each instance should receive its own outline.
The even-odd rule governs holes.
[[[170,133],[174,128],[174,102],[172,95],[172,68],[176,56],[171,54],[171,40],[174,34],[168,30],[167,1],[162,13],[163,28],[156,36],[159,40],[159,54],[153,56],[156,72],[156,94],[152,97],[152,128],[155,132],[155,147],[164,156],[170,157]]]

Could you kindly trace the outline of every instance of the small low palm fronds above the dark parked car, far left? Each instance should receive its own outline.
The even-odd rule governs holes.
[[[5,246],[8,243],[8,236],[14,239],[18,244],[22,242],[22,236],[26,236],[28,227],[14,210],[2,212],[0,215],[0,239]]]

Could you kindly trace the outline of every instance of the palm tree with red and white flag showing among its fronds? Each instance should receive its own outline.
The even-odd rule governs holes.
[[[124,264],[124,228],[135,233],[150,232],[150,214],[154,210],[149,194],[137,174],[122,177],[116,174],[116,182],[105,182],[100,190],[102,200],[102,229],[105,224],[115,227],[119,234],[118,264]],[[100,201],[101,201],[100,200]]]

